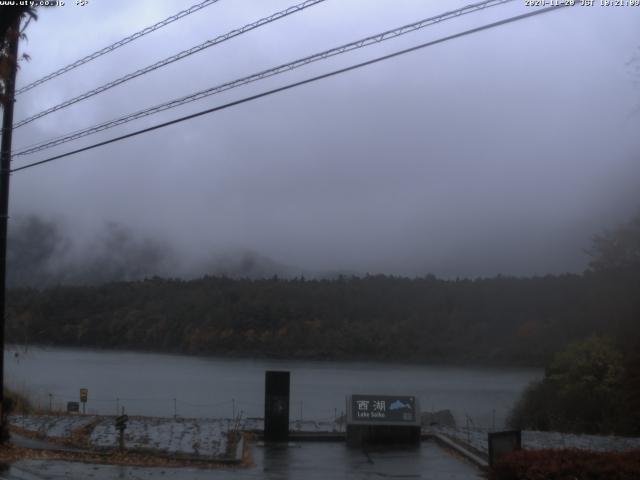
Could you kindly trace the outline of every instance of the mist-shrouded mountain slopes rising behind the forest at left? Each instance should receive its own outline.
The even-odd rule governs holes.
[[[77,244],[62,225],[35,215],[11,231],[8,250],[10,287],[99,285],[155,276],[192,279],[334,278],[354,271],[310,271],[278,263],[251,250],[217,251],[188,258],[160,239],[142,237],[124,225],[106,223],[93,239]]]

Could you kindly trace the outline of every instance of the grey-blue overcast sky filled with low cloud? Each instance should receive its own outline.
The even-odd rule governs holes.
[[[195,0],[66,3],[29,25],[19,87]],[[220,0],[20,95],[15,120],[294,3]],[[14,151],[467,3],[327,0],[19,128]],[[15,166],[527,11],[516,0]],[[251,250],[319,271],[581,272],[591,235],[640,207],[638,25],[640,7],[565,8],[17,172],[10,225],[36,213],[80,245],[114,221],[190,261]]]

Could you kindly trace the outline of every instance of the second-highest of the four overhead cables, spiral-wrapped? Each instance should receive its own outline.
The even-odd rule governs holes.
[[[224,35],[220,35],[216,38],[214,38],[213,40],[207,40],[204,43],[201,43],[200,45],[196,45],[195,47],[191,47],[188,48],[187,50],[183,50],[179,53],[176,53],[175,55],[172,55],[168,58],[165,58],[163,60],[160,60],[158,62],[155,62],[151,65],[148,65],[144,68],[141,68],[139,70],[136,70],[135,72],[131,72],[128,73],[127,75],[117,78],[115,80],[112,80],[109,83],[105,83],[104,85],[99,86],[98,88],[94,88],[93,90],[89,90],[87,92],[84,92],[81,95],[78,95],[77,97],[73,97],[69,100],[66,100],[58,105],[55,105],[51,108],[48,108],[46,110],[43,110],[39,113],[36,113],[35,115],[32,115],[31,117],[25,118],[24,120],[20,120],[19,122],[17,122],[13,128],[20,128],[23,125],[26,125],[27,123],[31,123],[34,120],[37,120],[39,118],[44,117],[45,115],[49,115],[50,113],[53,112],[57,112],[58,110],[62,110],[63,108],[67,108],[75,103],[78,103],[82,100],[86,100],[87,98],[93,97],[94,95],[98,95],[102,92],[105,92],[113,87],[116,87],[118,85],[121,85],[125,82],[128,82],[129,80],[133,80],[134,78],[137,78],[141,75],[145,75],[147,73],[150,73],[154,70],[157,70],[158,68],[162,68],[165,67],[173,62],[177,62],[178,60],[182,60],[183,58],[186,58],[190,55],[193,55],[194,53],[198,53],[202,50],[205,50],[207,48],[213,47],[214,45],[218,45],[222,42],[225,42],[227,40],[230,40],[231,38],[237,37],[239,35],[242,35],[243,33],[249,32],[251,30],[254,30],[256,28],[262,27],[264,25],[267,25],[268,23],[271,22],[275,22],[276,20],[280,20],[281,18],[287,17],[293,13],[297,13],[300,12],[308,7],[312,7],[314,5],[317,5],[318,3],[322,3],[325,0],[305,0],[302,3],[299,3],[297,5],[294,5],[292,7],[286,8],[285,10],[281,10],[279,12],[276,12],[272,15],[269,15],[268,17],[264,17],[261,18],[260,20],[257,20],[255,22],[249,23],[247,25],[244,25],[243,27],[240,28],[236,28],[234,30],[231,30],[230,32],[225,33]]]

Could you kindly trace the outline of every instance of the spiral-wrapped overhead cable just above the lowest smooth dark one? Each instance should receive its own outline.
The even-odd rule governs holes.
[[[22,156],[22,155],[28,155],[31,153],[35,153],[35,152],[39,152],[42,150],[46,150],[48,148],[52,148],[58,145],[61,145],[63,143],[67,143],[70,142],[72,140],[77,140],[79,138],[82,137],[86,137],[88,135],[92,135],[94,133],[98,133],[98,132],[102,132],[104,130],[108,130],[110,128],[119,126],[119,125],[123,125],[125,123],[129,123],[131,121],[137,120],[139,118],[143,118],[155,113],[159,113],[165,110],[169,110],[171,108],[175,108],[175,107],[179,107],[181,105],[185,105],[187,103],[190,102],[194,102],[196,100],[200,100],[203,99],[205,97],[211,96],[211,95],[215,95],[217,93],[221,93],[227,90],[231,90],[232,88],[237,88],[243,85],[247,85],[249,83],[253,83],[256,82],[258,80],[263,80],[265,78],[269,78],[275,75],[278,75],[280,73],[284,73],[284,72],[288,72],[290,70],[294,70],[300,67],[303,67],[305,65],[308,65],[310,63],[316,62],[316,61],[320,61],[320,60],[326,60],[327,58],[331,58],[333,56],[336,55],[340,55],[342,53],[346,53],[352,50],[356,50],[359,48],[363,48],[363,47],[367,47],[369,45],[373,45],[376,43],[380,43],[392,38],[396,38],[398,36],[401,35],[405,35],[407,33],[411,33],[414,32],[416,30],[420,30],[422,28],[428,27],[430,25],[434,25],[436,23],[440,23],[446,20],[450,20],[453,18],[457,18],[460,17],[462,15],[467,15],[469,13],[473,13],[479,10],[484,10],[486,8],[490,8],[490,7],[494,7],[497,5],[502,5],[504,3],[508,3],[511,2],[513,0],[485,0],[483,2],[480,3],[475,3],[475,4],[471,4],[471,5],[467,5],[466,7],[457,9],[457,10],[452,10],[449,12],[445,12],[442,13],[440,15],[434,16],[434,17],[429,17],[429,18],[425,18],[422,19],[418,22],[414,22],[414,23],[410,23],[392,30],[387,30],[385,32],[382,33],[378,33],[376,35],[371,35],[369,37],[365,37],[362,38],[360,40],[356,40],[354,42],[350,42],[344,45],[341,45],[339,47],[335,47],[329,50],[325,50],[323,52],[320,53],[316,53],[313,55],[310,55],[308,57],[303,57],[297,60],[294,60],[292,62],[289,63],[285,63],[282,65],[279,65],[277,67],[273,67],[267,70],[263,70],[260,71],[258,73],[253,73],[251,75],[248,75],[246,77],[242,77],[242,78],[238,78],[236,80],[232,80],[230,82],[226,82],[223,83],[221,85],[217,85],[214,87],[210,87],[207,88],[205,90],[201,90],[199,92],[195,92],[189,95],[186,95],[184,97],[180,97],[159,105],[155,105],[153,107],[149,107],[146,108],[144,110],[140,110],[138,112],[135,113],[131,113],[129,115],[125,115],[123,117],[119,117],[117,119],[114,120],[109,120],[107,122],[103,122],[101,124],[98,125],[94,125],[92,127],[88,127],[85,129],[81,129],[81,130],[76,130],[75,132],[71,132],[68,134],[65,134],[63,136],[51,139],[51,140],[45,140],[44,142],[39,142],[38,144],[34,145],[34,146],[30,146],[27,147],[21,151],[18,151],[16,153],[14,153],[14,157],[18,157],[18,156]]]

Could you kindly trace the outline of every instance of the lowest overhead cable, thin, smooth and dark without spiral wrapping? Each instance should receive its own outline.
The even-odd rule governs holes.
[[[184,117],[176,118],[176,119],[170,120],[168,122],[160,123],[160,124],[154,125],[152,127],[143,128],[141,130],[137,130],[135,132],[128,133],[126,135],[121,135],[119,137],[114,137],[114,138],[111,138],[109,140],[105,140],[103,142],[98,142],[98,143],[94,143],[92,145],[89,145],[89,146],[86,146],[86,147],[83,147],[83,148],[79,148],[77,150],[72,150],[70,152],[66,152],[66,153],[63,153],[63,154],[60,154],[60,155],[55,155],[53,157],[49,157],[49,158],[46,158],[44,160],[40,160],[40,161],[37,161],[37,162],[29,163],[27,165],[23,165],[21,167],[12,169],[11,173],[18,172],[20,170],[26,170],[28,168],[36,167],[38,165],[43,165],[45,163],[49,163],[49,162],[52,162],[54,160],[59,160],[59,159],[64,158],[64,157],[75,155],[76,153],[86,152],[87,150],[92,150],[94,148],[98,148],[98,147],[101,147],[101,146],[104,146],[104,145],[108,145],[110,143],[115,143],[115,142],[118,142],[120,140],[125,140],[127,138],[135,137],[135,136],[141,135],[143,133],[147,133],[147,132],[151,132],[153,130],[158,130],[160,128],[168,127],[169,125],[174,125],[176,123],[181,123],[181,122],[184,122],[186,120],[191,120],[191,119],[196,118],[196,117],[201,117],[201,116],[207,115],[209,113],[214,113],[214,112],[217,112],[217,111],[220,111],[220,110],[225,110],[227,108],[234,107],[236,105],[240,105],[240,104],[243,104],[243,103],[251,102],[253,100],[257,100],[257,99],[262,98],[262,97],[267,97],[267,96],[273,95],[275,93],[280,93],[280,92],[283,92],[283,91],[286,91],[286,90],[290,90],[290,89],[295,88],[295,87],[299,87],[299,86],[302,86],[302,85],[306,85],[306,84],[309,84],[309,83],[316,82],[318,80],[323,80],[325,78],[329,78],[329,77],[333,77],[333,76],[336,76],[336,75],[340,75],[342,73],[350,72],[350,71],[356,70],[358,68],[362,68],[362,67],[365,67],[365,66],[368,66],[368,65],[379,63],[379,62],[382,62],[384,60],[389,60],[391,58],[398,57],[400,55],[404,55],[404,54],[407,54],[407,53],[410,53],[410,52],[415,52],[416,50],[420,50],[420,49],[423,49],[423,48],[426,48],[426,47],[437,45],[439,43],[444,43],[444,42],[447,42],[449,40],[453,40],[453,39],[456,39],[456,38],[464,37],[466,35],[471,35],[473,33],[478,33],[478,32],[481,32],[483,30],[489,30],[491,28],[499,27],[501,25],[506,25],[508,23],[517,22],[519,20],[523,20],[525,18],[530,18],[530,17],[536,16],[536,15],[540,15],[540,14],[543,14],[543,13],[551,12],[553,10],[559,10],[559,9],[564,8],[566,6],[568,6],[568,5],[567,4],[562,4],[562,5],[558,5],[558,6],[552,6],[552,7],[542,8],[542,9],[539,9],[539,10],[534,10],[532,12],[523,13],[521,15],[516,15],[516,16],[513,16],[513,17],[509,17],[509,18],[506,18],[506,19],[503,19],[503,20],[499,20],[499,21],[496,21],[496,22],[492,22],[492,23],[489,23],[489,24],[482,25],[480,27],[475,27],[475,28],[472,28],[472,29],[469,29],[469,30],[465,30],[463,32],[455,33],[453,35],[448,35],[446,37],[442,37],[442,38],[439,38],[437,40],[431,40],[429,42],[425,42],[425,43],[422,43],[422,44],[414,46],[414,47],[406,48],[404,50],[399,50],[397,52],[393,52],[393,53],[390,53],[388,55],[383,55],[381,57],[377,57],[377,58],[374,58],[374,59],[371,59],[371,60],[367,60],[365,62],[361,62],[361,63],[357,63],[355,65],[351,65],[349,67],[341,68],[341,69],[338,69],[338,70],[333,70],[333,71],[331,71],[329,73],[324,73],[322,75],[317,75],[315,77],[307,78],[305,80],[301,80],[301,81],[298,81],[298,82],[290,83],[288,85],[285,85],[285,86],[282,86],[282,87],[278,87],[278,88],[274,88],[272,90],[267,90],[265,92],[258,93],[256,95],[251,95],[251,96],[248,96],[248,97],[244,97],[244,98],[242,98],[240,100],[235,100],[233,102],[225,103],[223,105],[219,105],[217,107],[209,108],[207,110],[202,110],[200,112],[193,113],[191,115],[186,115]]]

